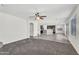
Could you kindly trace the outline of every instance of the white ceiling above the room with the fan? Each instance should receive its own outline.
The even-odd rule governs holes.
[[[0,11],[23,19],[40,12],[52,19],[68,17],[74,7],[72,4],[4,4],[0,5]]]

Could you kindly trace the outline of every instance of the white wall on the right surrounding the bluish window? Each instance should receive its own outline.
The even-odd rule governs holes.
[[[76,15],[76,37],[71,35],[71,19]],[[69,19],[69,41],[79,54],[79,6]]]

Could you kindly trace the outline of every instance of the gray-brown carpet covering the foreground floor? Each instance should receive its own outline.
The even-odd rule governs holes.
[[[55,41],[24,39],[4,45],[1,55],[77,55],[71,44]]]

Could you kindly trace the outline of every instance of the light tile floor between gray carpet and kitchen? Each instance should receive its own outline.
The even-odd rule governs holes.
[[[60,43],[69,43],[67,37],[63,34],[52,34],[52,35],[40,35],[35,36],[36,39],[43,39],[43,40],[50,40],[50,41],[56,41]]]

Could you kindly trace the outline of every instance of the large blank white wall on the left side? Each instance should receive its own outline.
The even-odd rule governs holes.
[[[27,21],[0,12],[0,42],[4,44],[28,38]]]

